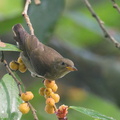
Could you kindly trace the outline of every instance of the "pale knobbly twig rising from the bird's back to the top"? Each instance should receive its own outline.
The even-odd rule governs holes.
[[[26,3],[25,3],[25,7],[24,7],[24,10],[22,12],[22,15],[24,16],[25,20],[26,20],[26,23],[30,29],[30,33],[31,35],[34,35],[34,29],[32,27],[32,24],[30,22],[30,18],[29,16],[27,15],[27,11],[28,11],[28,7],[29,7],[29,4],[31,3],[31,0],[26,0]]]

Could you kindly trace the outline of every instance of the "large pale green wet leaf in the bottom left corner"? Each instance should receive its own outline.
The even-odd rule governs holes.
[[[18,110],[22,100],[18,87],[11,75],[6,74],[0,80],[0,120],[20,120],[22,114]]]

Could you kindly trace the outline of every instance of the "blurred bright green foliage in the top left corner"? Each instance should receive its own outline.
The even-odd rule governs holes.
[[[22,22],[23,0],[0,0],[0,34]]]

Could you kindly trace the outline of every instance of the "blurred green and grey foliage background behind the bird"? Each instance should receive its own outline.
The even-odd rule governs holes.
[[[57,80],[61,104],[91,108],[120,119],[120,51],[104,38],[98,23],[92,18],[84,0],[41,0],[40,6],[32,4],[29,16],[35,35],[43,43],[59,51],[64,57],[74,61],[78,68],[64,78]],[[15,44],[12,26],[21,23],[29,29],[21,13],[24,0],[0,0],[0,39]],[[120,15],[108,0],[91,0],[96,13],[104,21],[109,33],[120,41]],[[120,5],[120,1],[117,1]],[[1,53],[0,53],[1,54]],[[19,56],[17,52],[4,52],[10,62]],[[0,78],[6,73],[0,63]],[[38,90],[43,83],[30,76],[29,71],[18,75],[26,90],[34,93],[31,101],[40,119],[56,120],[55,115],[45,113],[45,99]],[[21,120],[32,120],[31,113]],[[69,120],[93,120],[93,118],[69,111]]]

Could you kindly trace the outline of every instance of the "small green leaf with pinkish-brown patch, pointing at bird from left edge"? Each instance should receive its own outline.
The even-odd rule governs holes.
[[[15,45],[0,42],[0,51],[16,51],[16,52],[20,52],[21,50],[18,49]]]

